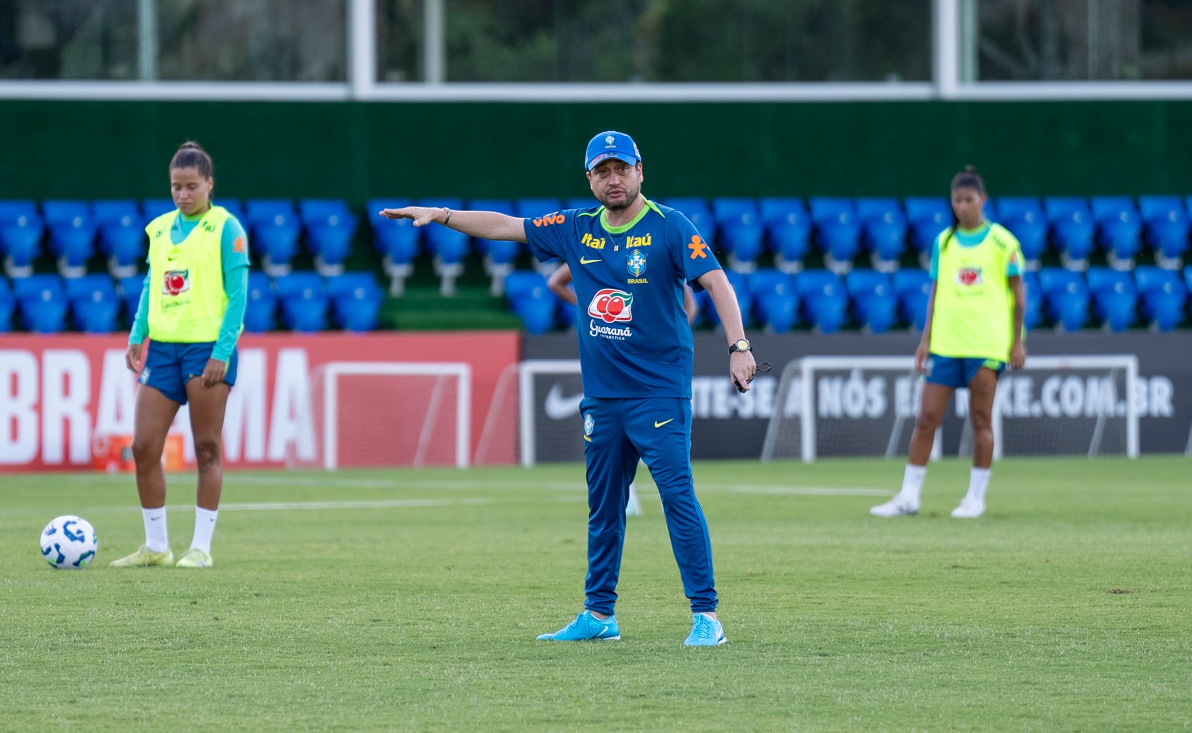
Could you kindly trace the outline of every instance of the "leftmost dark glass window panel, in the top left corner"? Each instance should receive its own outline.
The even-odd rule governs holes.
[[[137,79],[137,0],[0,0],[0,79]]]

